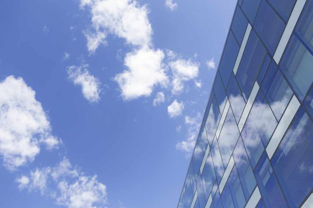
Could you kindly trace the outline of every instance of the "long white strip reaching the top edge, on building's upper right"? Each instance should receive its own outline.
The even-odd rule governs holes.
[[[285,48],[288,44],[288,41],[289,41],[289,38],[292,34],[292,31],[294,30],[295,28],[295,25],[299,19],[299,16],[301,14],[301,11],[305,5],[305,2],[306,0],[298,0],[296,3],[295,3],[295,7],[294,9],[292,10],[292,13],[290,15],[290,18],[287,22],[287,25],[285,27],[285,30],[284,30],[284,33],[283,35],[281,36],[281,39],[279,41],[279,44],[277,46],[277,49],[275,51],[275,54],[274,54],[274,60],[276,62],[276,64],[279,63],[280,59],[281,59],[281,56],[283,55],[284,51],[285,51]]]

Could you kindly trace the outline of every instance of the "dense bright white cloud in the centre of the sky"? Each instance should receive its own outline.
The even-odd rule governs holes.
[[[125,57],[125,66],[128,70],[117,74],[114,80],[121,89],[124,100],[136,99],[140,96],[149,96],[154,85],[166,87],[168,83],[162,60],[164,53],[149,48],[141,48]]]

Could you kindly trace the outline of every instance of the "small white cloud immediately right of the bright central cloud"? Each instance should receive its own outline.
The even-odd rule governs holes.
[[[191,60],[178,59],[169,63],[173,72],[172,94],[180,94],[184,89],[183,81],[194,79],[198,76],[199,63]]]

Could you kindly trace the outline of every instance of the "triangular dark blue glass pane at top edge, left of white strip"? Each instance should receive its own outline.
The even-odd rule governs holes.
[[[269,0],[269,3],[287,22],[291,14],[292,8],[295,5],[295,0]]]

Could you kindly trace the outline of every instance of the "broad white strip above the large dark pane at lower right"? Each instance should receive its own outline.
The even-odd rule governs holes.
[[[269,144],[266,147],[267,155],[269,159],[273,157],[273,154],[278,147],[280,140],[283,138],[289,124],[291,123],[293,117],[297,113],[298,108],[300,107],[300,103],[296,96],[294,95],[287,106],[285,113],[280,119],[279,124],[277,125],[275,132],[272,138],[269,140]]]

